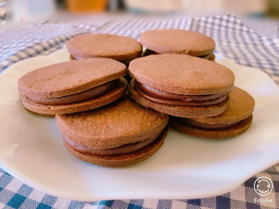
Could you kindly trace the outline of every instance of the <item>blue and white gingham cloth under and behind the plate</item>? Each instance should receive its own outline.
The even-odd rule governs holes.
[[[35,24],[21,30],[11,46],[0,45],[0,67],[5,71],[12,64],[41,54],[49,54],[65,47],[65,42],[82,33],[111,33],[139,39],[145,30],[180,28],[205,33],[212,37],[216,52],[245,66],[259,68],[279,85],[279,39],[268,39],[253,32],[234,15],[180,19],[173,21],[124,20],[87,22],[83,24]],[[265,28],[267,28],[265,26]],[[1,73],[0,71],[0,73]],[[272,192],[265,196],[272,203],[255,203],[263,199],[254,191],[259,177],[273,181]],[[0,169],[0,209],[274,209],[279,208],[279,164],[257,174],[236,190],[217,197],[194,200],[109,200],[80,202],[44,194]]]

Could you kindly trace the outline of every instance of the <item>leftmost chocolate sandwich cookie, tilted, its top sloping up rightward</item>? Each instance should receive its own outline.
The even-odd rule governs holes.
[[[126,93],[126,66],[92,58],[62,62],[31,71],[18,80],[22,103],[45,116],[101,107]]]

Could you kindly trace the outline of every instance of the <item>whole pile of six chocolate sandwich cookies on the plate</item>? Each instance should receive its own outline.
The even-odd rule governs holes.
[[[56,117],[65,147],[82,161],[144,161],[163,145],[169,126],[221,139],[251,125],[254,99],[234,87],[230,69],[212,62],[215,43],[203,34],[153,30],[140,42],[85,34],[67,49],[69,62],[27,73],[18,91],[28,111]]]

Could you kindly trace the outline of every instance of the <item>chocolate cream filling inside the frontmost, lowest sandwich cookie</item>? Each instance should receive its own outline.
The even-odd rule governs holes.
[[[130,144],[122,145],[120,147],[108,148],[108,149],[93,149],[91,147],[80,145],[74,143],[64,135],[63,135],[63,139],[71,148],[75,149],[78,152],[94,154],[99,156],[114,156],[114,155],[131,154],[133,152],[137,152],[140,149],[143,149],[144,147],[151,144],[153,141],[155,141],[160,136],[160,134],[161,132],[159,134],[156,134],[156,136],[152,138],[140,142],[130,143]]]

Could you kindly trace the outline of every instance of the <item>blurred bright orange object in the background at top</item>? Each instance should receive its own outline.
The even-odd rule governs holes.
[[[66,0],[69,12],[103,12],[106,10],[108,0]]]

